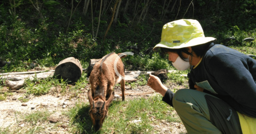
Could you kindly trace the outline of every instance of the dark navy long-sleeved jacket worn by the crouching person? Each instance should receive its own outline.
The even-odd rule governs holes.
[[[239,113],[256,117],[256,60],[215,44],[201,63],[188,74],[189,83],[227,102]],[[193,89],[194,85],[190,84]],[[168,90],[163,101],[172,106],[174,93]]]

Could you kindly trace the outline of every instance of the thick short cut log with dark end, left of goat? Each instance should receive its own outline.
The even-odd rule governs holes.
[[[82,65],[78,59],[69,57],[60,61],[55,68],[54,76],[58,79],[62,77],[68,84],[76,83],[83,72]]]

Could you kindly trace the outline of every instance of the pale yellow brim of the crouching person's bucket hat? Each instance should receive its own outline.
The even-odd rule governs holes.
[[[163,47],[163,48],[169,48],[169,49],[179,49],[179,48],[184,48],[184,47],[191,47],[191,46],[196,46],[208,42],[214,42],[216,41],[216,38],[213,37],[197,37],[192,40],[189,40],[188,42],[185,43],[180,43],[180,45],[177,45],[177,43],[172,43],[172,42],[160,42],[156,44],[156,46],[153,48],[153,51],[156,51],[157,49]]]

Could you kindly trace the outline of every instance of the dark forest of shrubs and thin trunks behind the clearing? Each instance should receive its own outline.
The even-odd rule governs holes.
[[[244,38],[256,36],[255,16],[255,0],[4,0],[0,2],[1,69],[24,70],[28,65],[21,63],[32,62],[55,66],[67,57],[87,67],[89,59],[111,51],[133,51],[137,56],[125,64],[154,70],[164,65],[146,64],[152,59],[147,49],[160,42],[164,24],[196,19],[205,36],[217,38],[217,43],[225,44],[232,37],[239,42],[232,44],[242,45]]]

